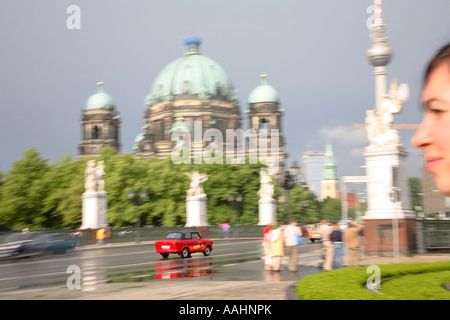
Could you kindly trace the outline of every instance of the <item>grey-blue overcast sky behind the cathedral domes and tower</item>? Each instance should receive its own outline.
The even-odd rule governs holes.
[[[374,105],[367,20],[371,0],[2,0],[0,2],[0,170],[36,147],[54,162],[77,155],[81,111],[96,82],[122,116],[122,152],[141,131],[144,97],[158,72],[183,54],[183,39],[202,39],[238,91],[241,111],[268,74],[285,109],[289,163],[307,146],[331,140],[338,174],[363,173],[364,123]],[[69,29],[67,9],[80,9]],[[450,41],[450,1],[385,0],[394,57],[388,78],[408,83],[411,97],[395,123],[419,123],[425,65]],[[245,121],[246,123],[246,121]],[[418,176],[414,130],[400,130],[409,175]]]

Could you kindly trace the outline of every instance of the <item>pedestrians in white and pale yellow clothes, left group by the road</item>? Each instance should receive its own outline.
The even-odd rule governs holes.
[[[281,259],[286,249],[289,271],[296,272],[298,244],[301,236],[302,231],[294,220],[286,226],[269,223],[263,230],[264,269],[279,272]]]

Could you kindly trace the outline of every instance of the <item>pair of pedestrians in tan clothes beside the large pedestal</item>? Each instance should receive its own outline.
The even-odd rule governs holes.
[[[322,233],[322,252],[324,256],[323,269],[333,270],[344,266],[344,246],[348,250],[348,266],[359,266],[359,248],[362,226],[356,221],[348,223],[342,232],[338,223],[320,222]]]

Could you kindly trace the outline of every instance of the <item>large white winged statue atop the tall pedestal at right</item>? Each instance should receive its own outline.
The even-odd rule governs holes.
[[[397,130],[392,128],[393,114],[400,113],[408,99],[408,85],[403,83],[398,86],[398,81],[392,80],[389,94],[381,97],[381,103],[375,110],[366,112],[367,136],[371,145],[389,146],[400,143]]]

